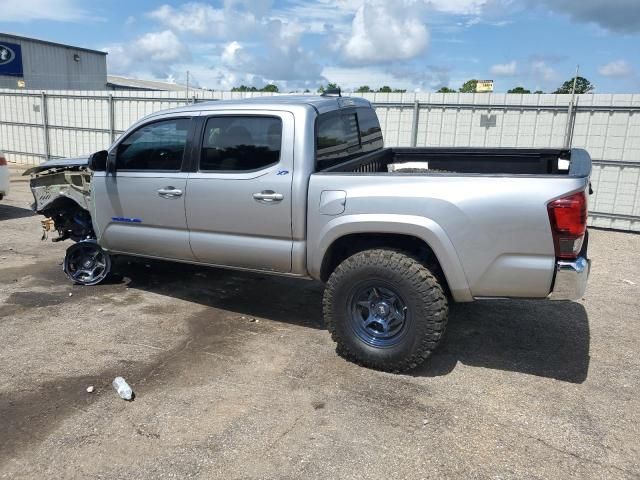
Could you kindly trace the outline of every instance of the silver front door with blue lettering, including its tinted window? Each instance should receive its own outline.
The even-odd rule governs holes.
[[[94,223],[108,250],[193,260],[185,216],[192,120],[164,118],[133,130],[109,153],[109,173],[93,179]],[[115,171],[114,171],[115,169]]]

